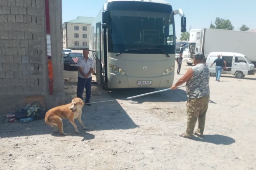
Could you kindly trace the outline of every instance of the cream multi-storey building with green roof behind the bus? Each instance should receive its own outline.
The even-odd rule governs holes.
[[[64,22],[63,48],[81,50],[89,48],[90,26],[93,17],[77,17],[71,21]]]

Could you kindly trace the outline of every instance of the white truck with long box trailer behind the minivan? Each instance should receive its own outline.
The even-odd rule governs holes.
[[[202,52],[205,59],[211,52],[233,52],[246,55],[256,66],[256,33],[226,29],[191,29],[189,50],[183,61],[193,64],[194,54]]]

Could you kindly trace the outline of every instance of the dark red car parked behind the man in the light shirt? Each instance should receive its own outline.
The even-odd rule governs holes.
[[[69,53],[64,60],[64,69],[77,70],[77,61],[79,58],[83,58],[83,53]]]

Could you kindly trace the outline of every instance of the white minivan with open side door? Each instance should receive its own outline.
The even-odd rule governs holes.
[[[236,78],[242,79],[245,75],[254,75],[254,64],[243,54],[230,52],[212,52],[206,59],[206,65],[210,70],[210,76],[215,76],[215,64],[211,66],[218,55],[226,61],[227,69],[222,70],[221,74],[232,74]]]

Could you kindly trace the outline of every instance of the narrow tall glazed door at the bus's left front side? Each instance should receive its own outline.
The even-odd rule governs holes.
[[[101,23],[96,23],[96,58],[95,58],[95,70],[96,70],[96,81],[98,84],[102,85],[101,82]]]

